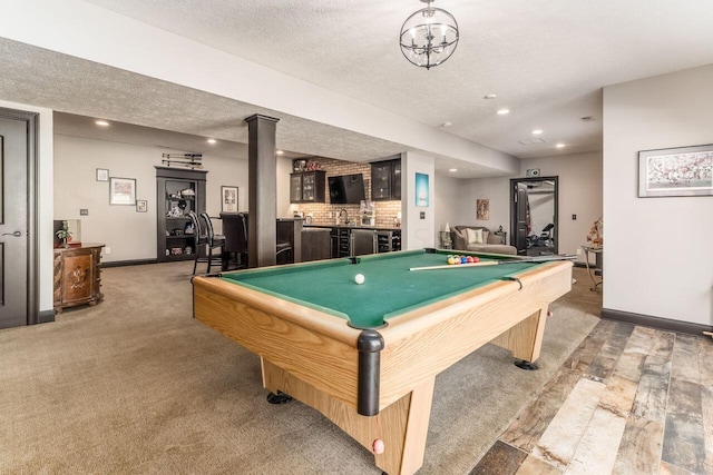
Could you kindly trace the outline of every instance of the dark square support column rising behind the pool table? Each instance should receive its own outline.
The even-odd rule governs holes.
[[[247,122],[247,265],[275,265],[277,158],[275,129],[280,119],[258,113]]]

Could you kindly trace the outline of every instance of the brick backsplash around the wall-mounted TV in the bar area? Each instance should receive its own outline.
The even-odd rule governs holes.
[[[364,188],[367,197],[371,196],[371,166],[369,164],[354,164],[351,161],[335,160],[332,158],[312,158],[322,166],[322,170],[326,171],[325,195],[329,201],[329,177],[339,175],[362,174],[364,176]],[[329,202],[300,204],[292,205],[295,211],[312,214],[312,224],[314,225],[333,225],[336,215],[341,209],[346,210],[349,219],[359,221],[359,205],[330,205]],[[379,228],[393,228],[397,215],[401,212],[401,201],[374,201],[375,226]],[[331,217],[330,217],[331,214]],[[341,220],[344,225],[344,220]]]

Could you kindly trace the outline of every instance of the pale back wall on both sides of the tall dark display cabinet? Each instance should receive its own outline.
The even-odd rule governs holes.
[[[81,240],[102,243],[111,253],[106,263],[156,258],[156,169],[164,149],[129,144],[55,137],[53,219],[80,219]],[[238,207],[247,209],[247,161],[203,156],[206,210],[221,211],[221,186],[238,187]],[[136,198],[148,201],[148,212],[135,206],[109,205],[109,182],[96,180],[96,169],[109,176],[136,179]],[[89,216],[80,216],[87,208]],[[51,244],[50,244],[51,248]]]

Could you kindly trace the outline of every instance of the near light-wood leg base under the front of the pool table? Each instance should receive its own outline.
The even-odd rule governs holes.
[[[355,408],[332,398],[296,376],[262,358],[263,386],[282,390],[303,404],[315,408],[354,441],[373,453],[374,441],[384,443],[384,452],[374,454],[375,465],[389,475],[413,474],[423,465],[426,437],[431,415],[434,377],[375,416],[362,416]]]

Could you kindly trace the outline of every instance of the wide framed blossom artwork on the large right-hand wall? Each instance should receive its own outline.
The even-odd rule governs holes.
[[[713,145],[638,152],[638,197],[713,196]]]

